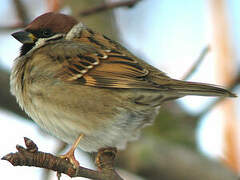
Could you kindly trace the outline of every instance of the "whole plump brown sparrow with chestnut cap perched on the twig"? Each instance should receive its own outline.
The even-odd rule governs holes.
[[[164,102],[186,95],[236,97],[215,85],[172,79],[74,17],[49,12],[12,36],[23,45],[11,93],[44,130],[74,150],[124,149]]]

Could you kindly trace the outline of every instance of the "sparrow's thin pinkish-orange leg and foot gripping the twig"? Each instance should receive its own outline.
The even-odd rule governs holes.
[[[79,166],[79,162],[75,159],[74,151],[76,150],[76,148],[83,136],[84,136],[83,134],[80,134],[79,137],[77,138],[77,140],[72,145],[71,149],[66,154],[60,156],[60,158],[69,160],[70,163],[72,163],[75,168],[77,168]]]

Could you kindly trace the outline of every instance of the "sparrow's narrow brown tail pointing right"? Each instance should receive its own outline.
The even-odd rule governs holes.
[[[176,92],[176,94],[180,96],[197,95],[197,96],[237,97],[236,94],[212,84],[171,79],[171,81],[167,83],[167,87],[169,88],[169,91]]]

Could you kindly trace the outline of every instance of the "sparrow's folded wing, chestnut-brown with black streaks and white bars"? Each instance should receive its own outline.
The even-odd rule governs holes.
[[[116,49],[99,50],[74,41],[56,43],[51,48],[50,57],[62,64],[56,77],[63,81],[95,87],[158,89],[147,80],[146,68]]]

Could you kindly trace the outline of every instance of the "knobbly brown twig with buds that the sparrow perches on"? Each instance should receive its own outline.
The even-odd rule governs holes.
[[[9,153],[2,157],[2,160],[9,161],[13,166],[40,167],[56,171],[58,174],[63,173],[70,177],[85,177],[95,180],[122,180],[111,166],[115,157],[109,154],[109,152],[101,154],[101,162],[99,162],[100,164],[108,164],[108,166],[101,166],[99,167],[100,170],[94,171],[82,166],[75,168],[66,159],[38,151],[37,145],[32,140],[25,137],[24,141],[26,148],[17,145],[18,152]]]

